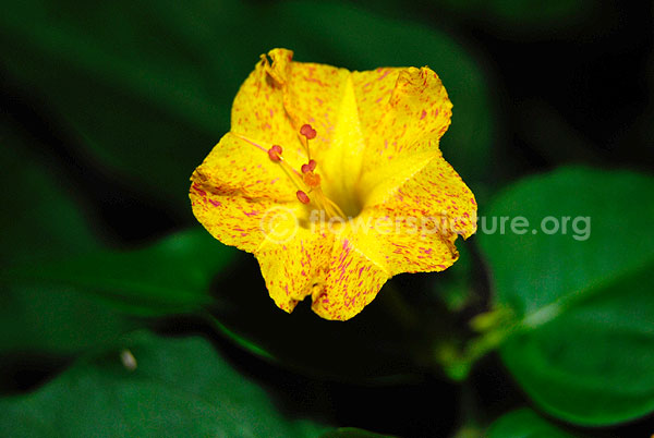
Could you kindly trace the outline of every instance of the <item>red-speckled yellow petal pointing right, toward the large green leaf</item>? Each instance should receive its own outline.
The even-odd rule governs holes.
[[[376,235],[389,275],[440,271],[458,259],[455,241],[476,231],[476,202],[440,153],[388,167],[355,220]],[[361,227],[360,227],[361,228]]]

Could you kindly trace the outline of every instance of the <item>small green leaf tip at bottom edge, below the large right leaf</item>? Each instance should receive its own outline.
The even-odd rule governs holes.
[[[530,409],[511,411],[496,419],[488,428],[488,438],[572,438]]]

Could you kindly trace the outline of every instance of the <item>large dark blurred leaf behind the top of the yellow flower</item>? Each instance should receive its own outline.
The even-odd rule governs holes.
[[[483,75],[459,44],[427,27],[324,2],[27,0],[0,16],[1,65],[12,78],[40,96],[83,153],[185,214],[191,172],[229,130],[231,101],[258,54],[276,46],[349,69],[429,64],[455,102],[446,158],[467,181],[487,174],[493,111]]]

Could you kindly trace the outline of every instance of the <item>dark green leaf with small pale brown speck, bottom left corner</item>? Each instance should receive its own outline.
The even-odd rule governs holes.
[[[0,399],[7,436],[316,437],[202,338],[137,333],[38,391]]]

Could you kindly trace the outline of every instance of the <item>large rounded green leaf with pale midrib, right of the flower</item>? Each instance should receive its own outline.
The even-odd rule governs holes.
[[[501,357],[552,415],[607,425],[654,410],[653,191],[649,175],[568,168],[517,183],[484,211],[495,306],[518,320]],[[491,232],[505,216],[526,218],[525,233],[510,221]],[[561,228],[547,234],[552,218]]]

